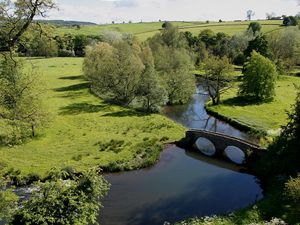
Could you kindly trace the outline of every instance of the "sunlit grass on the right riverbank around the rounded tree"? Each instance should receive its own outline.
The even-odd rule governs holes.
[[[300,85],[299,77],[280,76],[273,102],[250,105],[236,98],[238,88],[235,87],[221,96],[221,105],[210,105],[208,108],[269,135],[275,135],[287,123],[286,112],[291,110],[295,102],[297,90],[294,84]]]

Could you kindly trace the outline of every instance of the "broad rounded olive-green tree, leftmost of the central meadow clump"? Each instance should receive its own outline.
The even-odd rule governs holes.
[[[113,46],[99,43],[88,48],[83,70],[95,94],[123,105],[136,98],[144,65],[135,47],[118,42]]]

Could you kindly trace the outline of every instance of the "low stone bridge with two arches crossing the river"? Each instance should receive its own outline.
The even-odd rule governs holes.
[[[225,157],[237,164],[244,164],[250,156],[263,152],[257,144],[205,130],[187,131],[184,142],[187,147],[192,147],[206,156]]]

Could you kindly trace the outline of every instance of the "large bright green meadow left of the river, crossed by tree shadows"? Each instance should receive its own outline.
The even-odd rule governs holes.
[[[45,176],[52,167],[134,169],[153,164],[185,129],[161,115],[104,103],[89,92],[82,58],[27,59],[45,81],[49,127],[23,145],[0,147],[0,169]]]

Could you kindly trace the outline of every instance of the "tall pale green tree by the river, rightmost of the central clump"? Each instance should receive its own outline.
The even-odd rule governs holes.
[[[194,63],[186,50],[187,42],[178,28],[164,29],[148,40],[154,57],[155,69],[161,77],[169,104],[188,101],[195,90],[192,75]]]

